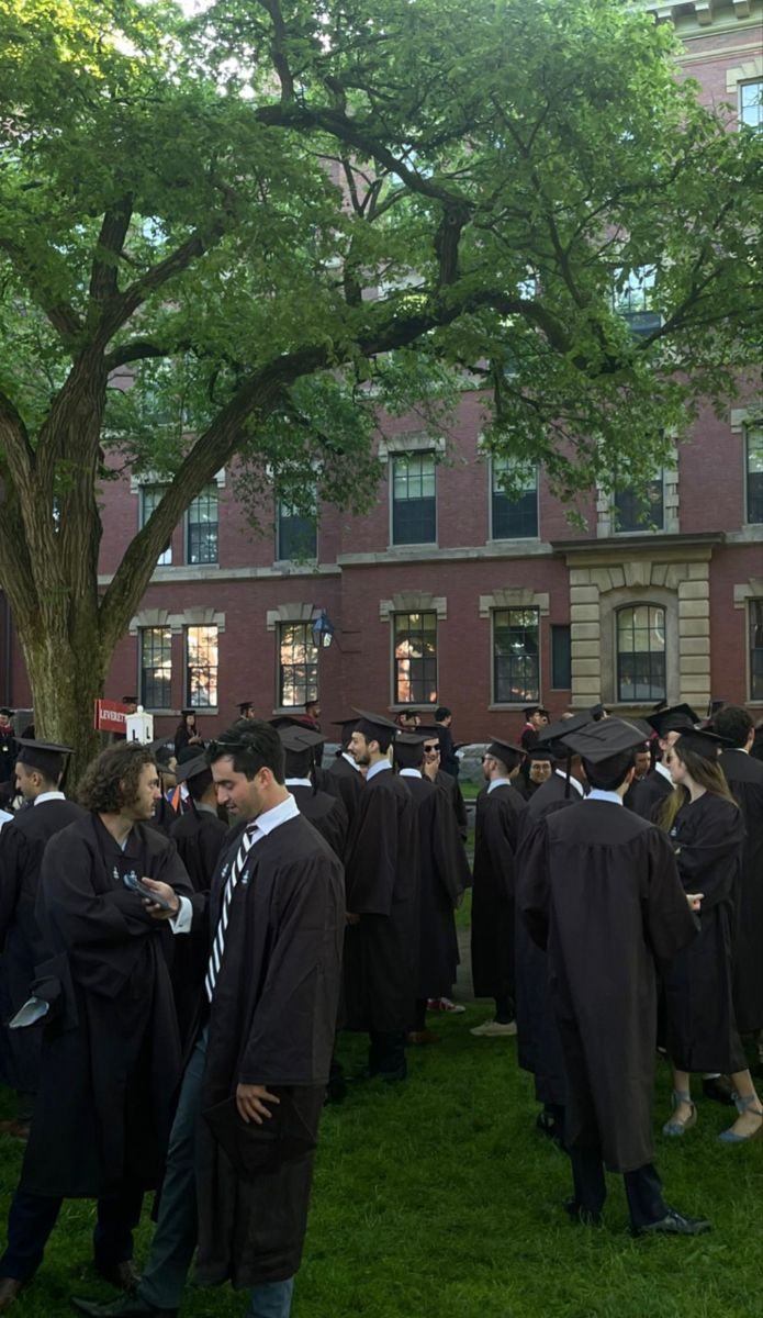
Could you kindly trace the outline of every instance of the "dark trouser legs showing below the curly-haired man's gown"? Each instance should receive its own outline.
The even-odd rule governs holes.
[[[101,1267],[132,1259],[133,1231],[140,1222],[142,1202],[144,1191],[133,1188],[98,1201],[92,1251]],[[63,1199],[16,1191],[8,1214],[8,1244],[0,1259],[0,1277],[29,1281],[34,1276],[62,1203]]]

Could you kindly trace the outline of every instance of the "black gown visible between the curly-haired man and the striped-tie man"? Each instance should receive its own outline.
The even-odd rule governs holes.
[[[213,811],[200,809],[198,805],[192,805],[173,820],[170,837],[178,849],[194,892],[210,891],[229,832],[228,825]],[[206,928],[194,928],[190,934],[174,940],[171,979],[183,1048],[190,1041],[199,1019],[208,961]]]

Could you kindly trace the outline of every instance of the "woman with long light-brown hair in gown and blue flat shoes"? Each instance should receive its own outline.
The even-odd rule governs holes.
[[[665,757],[675,791],[658,824],[673,844],[687,892],[701,894],[700,933],[664,973],[668,1054],[673,1066],[673,1112],[665,1135],[684,1135],[696,1123],[692,1072],[731,1077],[738,1116],[720,1136],[739,1144],[763,1132],[763,1107],[755,1093],[737,1031],[733,1004],[734,900],[745,824],[731,796],[713,733],[681,733]]]

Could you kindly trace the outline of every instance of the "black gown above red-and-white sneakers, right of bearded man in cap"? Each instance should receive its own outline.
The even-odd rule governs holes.
[[[456,816],[428,778],[401,775],[419,824],[419,973],[416,998],[445,998],[459,966],[455,908],[472,882]],[[455,779],[452,779],[455,782]]]

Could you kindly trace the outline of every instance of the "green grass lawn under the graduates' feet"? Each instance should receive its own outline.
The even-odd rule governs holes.
[[[534,1130],[514,1040],[481,1040],[465,1015],[436,1017],[441,1043],[410,1049],[403,1085],[358,1083],[328,1108],[294,1318],[762,1318],[763,1143],[723,1148],[729,1108],[704,1102],[683,1140],[658,1136],[668,1199],[708,1214],[697,1240],[634,1240],[619,1178],[604,1230],[572,1226],[567,1160]],[[345,1036],[349,1069],[362,1039]],[[668,1111],[660,1066],[656,1120]],[[83,1132],[84,1137],[84,1132]],[[5,1211],[21,1153],[0,1140]],[[70,1313],[72,1292],[111,1297],[90,1264],[87,1203],[65,1206],[18,1318]],[[141,1228],[145,1256],[150,1224]],[[183,1318],[242,1318],[242,1296],[188,1288]]]

